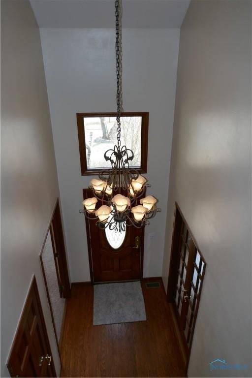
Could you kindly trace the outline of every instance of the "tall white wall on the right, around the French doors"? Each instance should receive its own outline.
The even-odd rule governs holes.
[[[175,200],[206,259],[189,377],[251,377],[251,1],[193,0],[181,29],[163,278]],[[210,372],[216,358],[245,371]]]

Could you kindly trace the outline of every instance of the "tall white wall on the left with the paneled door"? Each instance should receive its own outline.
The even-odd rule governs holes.
[[[57,374],[39,252],[59,195],[44,67],[29,1],[1,1],[1,377],[33,273]]]

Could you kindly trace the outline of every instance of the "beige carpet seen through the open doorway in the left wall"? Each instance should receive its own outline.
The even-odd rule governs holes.
[[[53,310],[57,339],[58,341],[60,341],[65,299],[60,297],[50,231],[48,232],[45,242],[45,247],[42,253],[42,260],[45,270],[46,283],[49,291],[49,297]]]

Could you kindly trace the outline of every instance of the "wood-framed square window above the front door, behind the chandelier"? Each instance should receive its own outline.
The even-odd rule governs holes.
[[[82,175],[111,168],[104,153],[117,144],[116,116],[116,113],[77,113]],[[149,113],[122,113],[121,123],[121,145],[134,153],[129,167],[146,173]]]

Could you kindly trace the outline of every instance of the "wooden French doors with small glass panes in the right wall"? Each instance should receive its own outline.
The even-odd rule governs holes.
[[[189,357],[206,262],[176,203],[167,299],[173,305]]]

